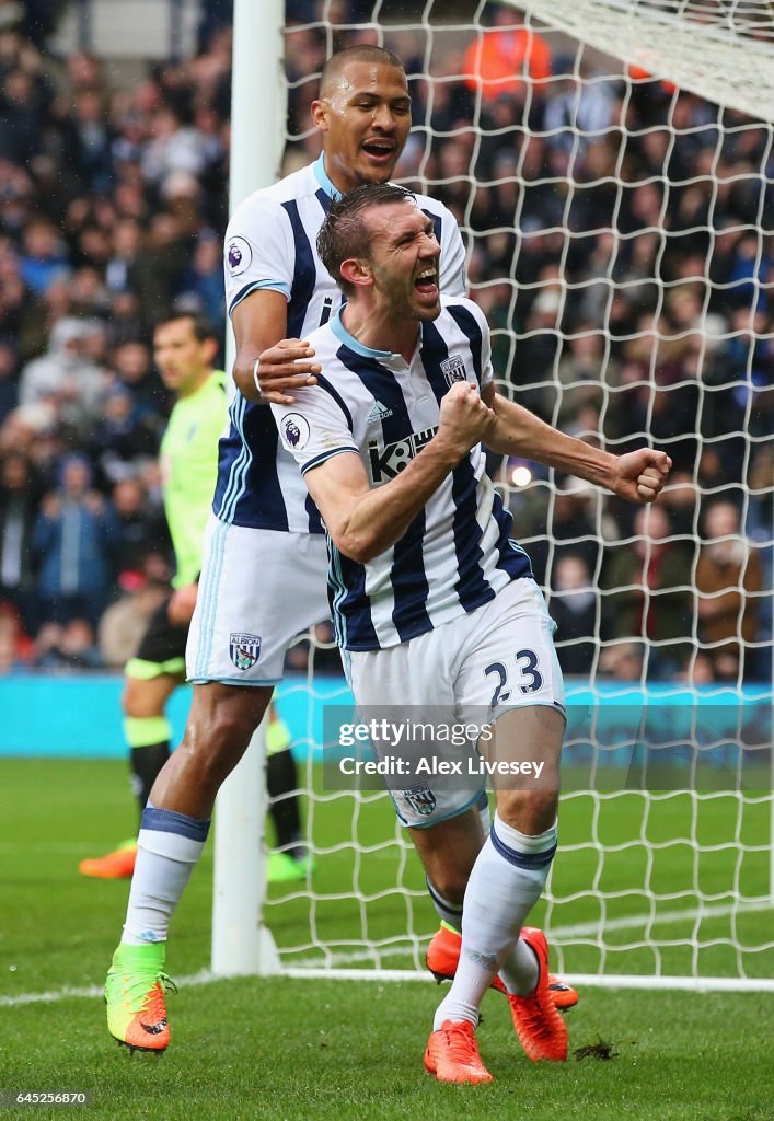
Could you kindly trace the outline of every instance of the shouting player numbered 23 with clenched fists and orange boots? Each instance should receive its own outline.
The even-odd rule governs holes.
[[[656,498],[671,461],[590,447],[496,392],[486,319],[471,302],[440,296],[441,248],[408,192],[352,191],[330,209],[319,247],[348,303],[310,336],[317,385],[273,408],[326,527],[331,606],[358,708],[415,706],[420,723],[429,705],[483,711],[487,759],[543,763],[532,788],[495,777],[497,814],[470,873],[459,966],[425,1053],[441,1081],[489,1082],[474,1029],[498,973],[527,1055],[566,1057],[547,943],[524,926],[556,851],[564,710],[551,620],[480,442],[641,502]],[[459,840],[450,823],[476,791],[421,786],[391,794],[432,880]]]

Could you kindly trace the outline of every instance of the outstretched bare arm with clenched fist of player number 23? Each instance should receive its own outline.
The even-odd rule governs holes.
[[[626,455],[611,455],[552,428],[528,409],[501,397],[492,386],[482,396],[495,413],[495,424],[486,436],[487,447],[494,452],[522,455],[566,471],[632,502],[653,502],[664,485],[672,466],[665,452],[642,447]]]

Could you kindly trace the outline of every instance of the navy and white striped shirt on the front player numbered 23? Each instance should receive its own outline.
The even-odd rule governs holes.
[[[407,363],[363,346],[339,314],[310,335],[319,385],[271,406],[302,473],[353,452],[371,487],[394,479],[434,436],[441,399],[455,381],[492,380],[489,327],[468,299],[443,297]],[[512,580],[532,576],[510,539],[512,517],[485,471],[480,445],[446,476],[395,545],[368,564],[329,539],[329,594],[337,640],[348,650],[405,642],[474,611]]]

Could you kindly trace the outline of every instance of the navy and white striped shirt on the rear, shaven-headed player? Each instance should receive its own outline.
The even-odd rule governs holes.
[[[321,156],[237,209],[224,242],[229,315],[251,293],[270,288],[287,297],[288,339],[307,339],[330,319],[342,297],[315,241],[335,194]],[[441,243],[441,288],[464,295],[464,247],[454,216],[433,198],[416,197]],[[220,442],[215,515],[237,526],[322,532],[298,469],[277,439],[270,409],[237,390],[230,421]]]

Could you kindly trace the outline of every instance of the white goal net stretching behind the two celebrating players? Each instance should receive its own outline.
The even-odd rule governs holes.
[[[308,106],[331,50],[394,49],[414,106],[397,177],[459,220],[500,391],[564,432],[674,462],[649,510],[526,461],[490,463],[568,679],[560,852],[534,916],[555,967],[766,983],[770,4],[286,7],[284,170],[319,151]],[[264,919],[286,970],[416,972],[437,920],[411,843],[385,793],[323,775],[325,707],[349,703],[329,638],[291,652],[279,696],[314,868],[269,889]]]

